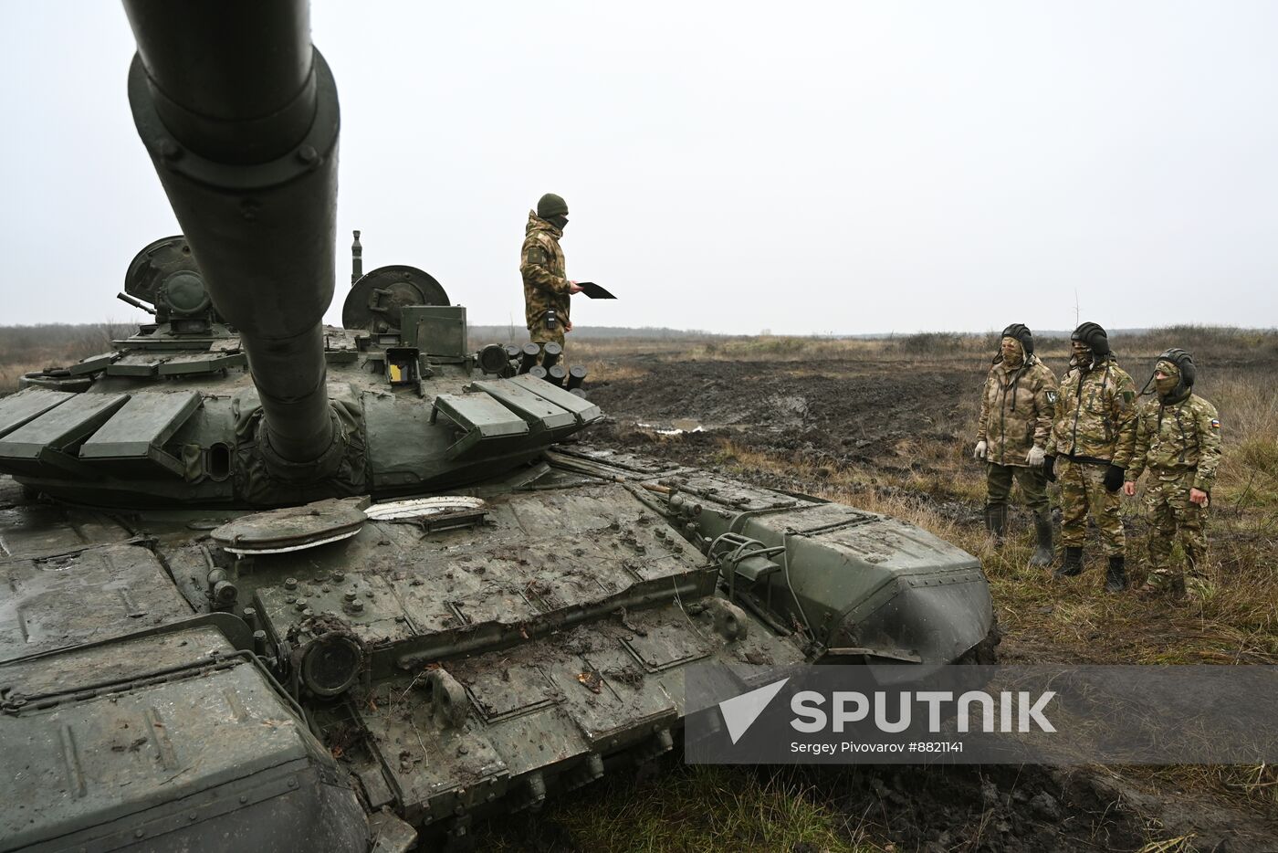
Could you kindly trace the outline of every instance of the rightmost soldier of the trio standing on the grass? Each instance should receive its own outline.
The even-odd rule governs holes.
[[[1149,579],[1139,590],[1143,596],[1185,595],[1185,575],[1169,568],[1177,531],[1191,572],[1206,554],[1203,519],[1220,459],[1220,419],[1214,405],[1192,393],[1195,373],[1194,358],[1183,349],[1159,356],[1155,399],[1141,404],[1136,419],[1136,448],[1123,494],[1134,496],[1140,474],[1149,472]]]

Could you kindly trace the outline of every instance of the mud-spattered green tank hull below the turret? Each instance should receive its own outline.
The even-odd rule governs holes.
[[[451,490],[484,506],[454,527],[371,518],[238,556],[210,528],[245,510],[3,494],[0,749],[22,765],[0,780],[5,850],[460,839],[671,749],[690,666],[947,662],[993,628],[979,565],[916,528],[607,450]],[[780,537],[801,616],[751,610],[783,581],[728,583],[741,567],[708,542],[730,529]],[[211,575],[235,586],[221,611]],[[305,659],[335,637],[358,664],[330,696]]]

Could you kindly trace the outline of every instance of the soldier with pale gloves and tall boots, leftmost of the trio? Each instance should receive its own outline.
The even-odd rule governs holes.
[[[1003,330],[999,353],[980,396],[974,455],[985,460],[985,528],[1002,544],[1012,480],[1034,513],[1038,547],[1030,565],[1052,564],[1052,510],[1043,472],[1056,407],[1056,375],[1034,354],[1034,335],[1022,324]]]

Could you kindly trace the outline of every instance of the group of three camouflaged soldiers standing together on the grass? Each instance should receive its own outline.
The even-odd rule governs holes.
[[[1085,322],[1070,336],[1070,368],[1058,385],[1034,354],[1029,329],[1012,324],[1001,338],[982,394],[974,454],[987,464],[989,532],[999,544],[1006,536],[1016,481],[1034,513],[1038,547],[1030,564],[1051,567],[1047,483],[1057,482],[1063,558],[1056,577],[1081,574],[1090,515],[1108,558],[1105,590],[1120,592],[1127,588],[1121,503],[1136,495],[1136,481],[1148,472],[1149,575],[1139,593],[1183,596],[1185,575],[1172,567],[1172,547],[1180,535],[1190,569],[1203,565],[1203,522],[1220,458],[1215,407],[1192,393],[1194,358],[1168,349],[1137,390],[1105,330]],[[1141,402],[1144,394],[1150,399]]]

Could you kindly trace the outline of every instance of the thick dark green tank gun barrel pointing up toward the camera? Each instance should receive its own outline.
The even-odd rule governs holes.
[[[204,275],[240,333],[272,472],[340,459],[326,387],[337,91],[303,0],[125,0],[134,123]]]

